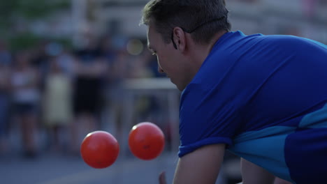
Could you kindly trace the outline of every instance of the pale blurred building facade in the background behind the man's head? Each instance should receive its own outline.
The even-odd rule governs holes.
[[[71,38],[82,45],[83,34],[111,34],[146,39],[139,25],[147,0],[71,0],[69,10],[31,22],[31,31],[55,38]],[[327,0],[228,0],[232,30],[245,34],[289,34],[327,43]]]

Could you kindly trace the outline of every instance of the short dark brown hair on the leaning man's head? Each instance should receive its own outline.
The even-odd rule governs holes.
[[[170,43],[175,26],[196,29],[192,38],[205,44],[218,31],[231,30],[227,14],[225,0],[151,0],[143,8],[140,24],[149,25],[153,21],[165,43]]]

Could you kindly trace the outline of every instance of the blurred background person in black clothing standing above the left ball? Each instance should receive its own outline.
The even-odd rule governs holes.
[[[93,36],[86,36],[87,45],[75,52],[73,109],[78,132],[73,152],[79,153],[80,135],[99,128],[101,111],[101,90],[103,75],[108,65],[101,58],[98,45]]]

